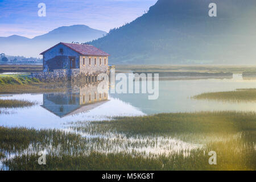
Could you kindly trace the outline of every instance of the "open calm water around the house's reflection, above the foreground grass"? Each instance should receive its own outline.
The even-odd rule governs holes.
[[[1,99],[37,101],[38,105],[4,109],[13,114],[0,114],[1,126],[63,128],[67,122],[101,121],[114,116],[133,116],[167,112],[239,110],[256,111],[256,102],[227,103],[198,101],[191,97],[204,92],[219,92],[239,88],[256,88],[256,80],[232,79],[164,80],[159,81],[158,100],[148,100],[147,94],[110,94],[99,96],[97,86],[73,89],[67,93],[15,94]],[[94,96],[96,100],[94,100]]]

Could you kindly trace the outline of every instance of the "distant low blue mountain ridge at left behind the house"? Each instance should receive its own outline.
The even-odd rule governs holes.
[[[12,35],[0,37],[0,50],[6,55],[22,55],[39,57],[39,53],[60,42],[88,42],[101,38],[107,34],[85,25],[63,26],[47,34],[28,39],[23,36]]]

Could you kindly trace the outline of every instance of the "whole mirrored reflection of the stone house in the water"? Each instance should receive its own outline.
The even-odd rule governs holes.
[[[92,110],[107,101],[108,92],[99,93],[97,84],[90,84],[83,88],[69,90],[66,93],[43,94],[43,105],[41,106],[63,118]]]

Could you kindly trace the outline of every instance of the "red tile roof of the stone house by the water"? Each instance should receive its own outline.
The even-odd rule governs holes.
[[[64,46],[71,48],[73,51],[76,51],[76,52],[80,53],[81,55],[85,55],[85,56],[110,56],[108,53],[101,51],[100,49],[98,49],[97,47],[94,47],[92,45],[72,44],[72,43],[63,43],[63,42],[60,42],[59,44],[63,44]],[[53,47],[56,47],[59,44],[56,44]],[[49,49],[52,49],[53,47],[51,47]],[[43,55],[44,53],[49,51],[49,49],[40,53],[40,55]]]

